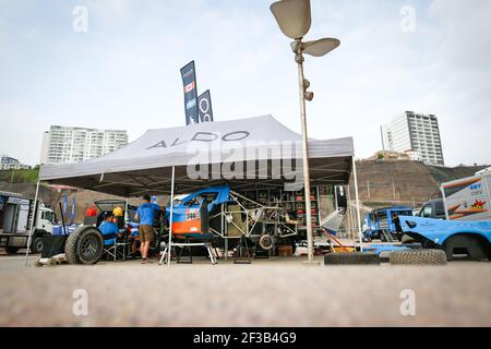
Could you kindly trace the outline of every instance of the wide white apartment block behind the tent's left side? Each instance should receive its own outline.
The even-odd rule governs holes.
[[[127,144],[127,131],[52,125],[43,135],[40,164],[84,161]]]

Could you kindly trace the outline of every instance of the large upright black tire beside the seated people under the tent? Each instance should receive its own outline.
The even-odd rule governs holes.
[[[70,264],[96,264],[103,255],[104,240],[93,226],[79,227],[67,238],[64,254]]]

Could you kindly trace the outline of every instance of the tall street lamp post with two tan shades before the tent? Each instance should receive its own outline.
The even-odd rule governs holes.
[[[309,262],[313,262],[313,234],[312,234],[312,203],[310,200],[310,170],[309,170],[309,142],[307,132],[306,100],[313,99],[313,93],[307,89],[310,82],[303,74],[303,53],[322,57],[339,46],[335,38],[323,38],[314,41],[302,41],[303,36],[309,33],[311,25],[310,0],[282,0],[271,5],[279,28],[289,38],[295,61],[298,65],[298,79],[300,91],[300,122],[302,131],[302,165],[303,165],[303,190],[306,194],[306,220],[307,220],[307,245]]]

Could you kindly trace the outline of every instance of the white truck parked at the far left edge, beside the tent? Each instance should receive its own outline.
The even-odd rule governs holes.
[[[31,251],[43,251],[43,237],[51,234],[56,220],[55,212],[39,202],[34,208],[34,200],[21,194],[0,191],[0,248],[14,254],[27,246],[31,222],[34,214],[34,230]]]

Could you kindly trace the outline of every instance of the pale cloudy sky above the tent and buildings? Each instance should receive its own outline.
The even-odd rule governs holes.
[[[38,164],[51,124],[128,130],[130,141],[183,125],[179,70],[191,60],[216,121],[273,115],[300,132],[297,68],[272,2],[0,0],[0,153]],[[306,58],[309,136],[352,136],[369,157],[380,125],[412,110],[438,117],[446,165],[491,164],[491,1],[311,7],[306,39],[342,45]]]

